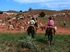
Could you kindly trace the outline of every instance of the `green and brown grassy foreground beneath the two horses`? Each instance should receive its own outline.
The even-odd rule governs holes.
[[[22,50],[24,46],[28,50]],[[40,33],[35,39],[27,33],[0,33],[0,52],[70,52],[70,35],[58,34],[49,45],[47,36]]]

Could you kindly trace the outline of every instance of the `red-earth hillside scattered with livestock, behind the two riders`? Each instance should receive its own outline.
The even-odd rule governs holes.
[[[70,34],[70,10],[61,10],[61,11],[53,11],[53,10],[31,10],[31,11],[26,11],[26,12],[16,12],[16,11],[8,11],[8,13],[3,13],[0,14],[0,32],[21,32],[21,29],[19,26],[22,24],[26,29],[23,30],[22,32],[26,32],[27,27],[29,26],[25,22],[28,23],[30,18],[27,18],[28,15],[31,15],[32,17],[36,14],[40,14],[41,12],[44,12],[46,14],[45,17],[37,17],[38,18],[38,24],[43,23],[45,25],[48,22],[48,16],[53,16],[55,17],[55,26],[57,26],[57,33],[58,34]],[[24,17],[23,19],[20,17]],[[13,20],[15,18],[15,20]],[[5,22],[3,22],[5,20]],[[9,22],[14,25],[13,30],[9,30]],[[66,22],[66,26],[64,27],[63,22]],[[2,25],[2,23],[6,24],[5,26]],[[20,24],[20,25],[19,25]],[[47,26],[47,25],[45,25]],[[38,33],[45,33],[45,29],[41,31],[41,29],[38,29]]]

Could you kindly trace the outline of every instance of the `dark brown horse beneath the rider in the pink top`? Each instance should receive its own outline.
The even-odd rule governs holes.
[[[45,36],[48,35],[48,40],[50,41],[50,45],[52,43],[52,40],[53,40],[53,35],[55,35],[56,31],[55,31],[55,28],[53,27],[47,27],[46,30],[45,30]]]

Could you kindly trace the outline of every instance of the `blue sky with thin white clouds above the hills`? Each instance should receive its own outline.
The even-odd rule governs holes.
[[[0,11],[32,9],[70,10],[70,0],[0,0]]]

